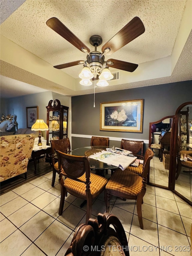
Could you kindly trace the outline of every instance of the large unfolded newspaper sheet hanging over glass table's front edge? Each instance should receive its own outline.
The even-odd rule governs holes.
[[[90,155],[89,158],[98,160],[106,164],[117,166],[122,170],[125,170],[130,164],[132,164],[137,159],[137,157],[116,154],[113,152],[107,152],[105,150],[94,155]]]

